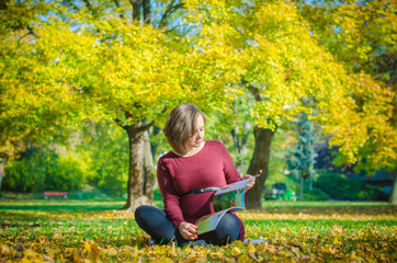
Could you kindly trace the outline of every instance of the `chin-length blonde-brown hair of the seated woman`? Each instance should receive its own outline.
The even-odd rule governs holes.
[[[202,116],[205,123],[205,114],[191,103],[184,103],[174,107],[168,116],[162,132],[168,144],[177,153],[188,151],[186,141],[195,133],[198,116]]]

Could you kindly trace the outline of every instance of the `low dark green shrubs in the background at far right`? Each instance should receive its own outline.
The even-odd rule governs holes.
[[[318,172],[314,185],[333,199],[374,201],[382,197],[382,187],[349,179],[340,173]]]

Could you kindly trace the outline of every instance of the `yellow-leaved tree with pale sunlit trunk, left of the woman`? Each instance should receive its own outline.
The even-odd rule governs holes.
[[[152,26],[154,20],[145,16],[148,13],[144,14],[146,23],[137,21],[140,18],[137,10],[133,10],[133,19],[128,20],[122,2],[115,2],[117,9],[107,2],[65,3],[71,8],[54,3],[52,15],[34,28],[32,42],[23,38],[27,54],[39,50],[39,56],[32,56],[32,68],[26,69],[26,73],[33,68],[42,68],[46,73],[45,79],[36,77],[41,84],[31,84],[31,91],[35,93],[41,88],[45,92],[36,99],[41,102],[57,99],[59,94],[50,93],[49,84],[56,82],[56,87],[61,87],[61,91],[72,98],[71,108],[63,108],[63,103],[54,102],[65,110],[65,118],[72,116],[79,123],[112,121],[125,129],[129,141],[129,179],[124,208],[133,210],[141,204],[152,204],[155,182],[148,129],[155,124],[161,126],[167,112],[181,102],[191,101],[206,111],[224,100],[226,78],[218,76],[222,71],[218,58],[202,53],[172,28]],[[133,1],[133,7],[140,10],[138,3]],[[168,26],[165,16],[170,18],[180,7],[175,1],[171,4],[166,5],[160,21],[165,26]],[[19,50],[18,44],[12,44],[15,45],[12,50]],[[48,62],[44,65],[41,57]],[[18,70],[10,79],[18,79],[16,75]],[[30,78],[26,79],[29,82]],[[26,91],[26,82],[18,92]],[[37,106],[43,114],[50,110]],[[4,119],[10,119],[14,110],[15,105],[11,105]],[[25,116],[37,115],[26,108]],[[56,117],[52,119],[63,127],[66,123]]]

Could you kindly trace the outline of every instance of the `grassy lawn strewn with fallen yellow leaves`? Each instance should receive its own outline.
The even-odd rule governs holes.
[[[396,262],[397,207],[266,202],[246,210],[248,239],[226,247],[148,247],[120,201],[0,201],[0,262]]]

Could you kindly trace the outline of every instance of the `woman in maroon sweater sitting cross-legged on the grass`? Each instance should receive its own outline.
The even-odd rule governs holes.
[[[140,206],[135,211],[138,226],[156,243],[223,245],[245,238],[243,225],[235,213],[227,213],[214,231],[197,236],[194,222],[214,213],[214,186],[241,180],[226,147],[204,140],[204,125],[205,114],[190,103],[173,108],[167,119],[163,133],[172,151],[163,155],[157,165],[165,209]],[[251,175],[243,176],[247,178]],[[253,184],[254,179],[247,190]],[[197,190],[204,192],[195,193]]]

